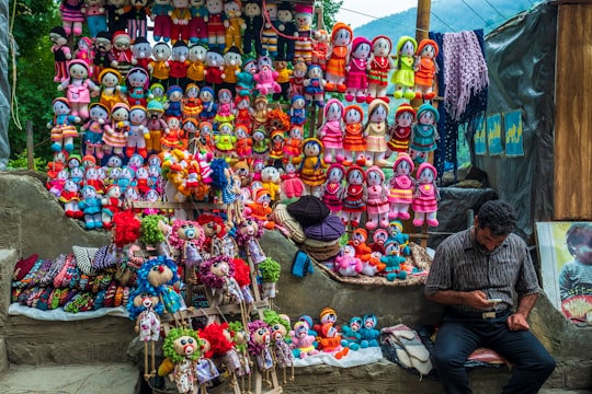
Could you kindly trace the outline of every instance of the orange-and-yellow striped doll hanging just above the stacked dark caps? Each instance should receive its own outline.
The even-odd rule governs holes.
[[[325,167],[327,164],[322,160],[323,146],[316,138],[308,138],[303,141],[304,159],[298,169],[300,179],[307,186],[307,194],[319,197],[321,186],[327,179]]]

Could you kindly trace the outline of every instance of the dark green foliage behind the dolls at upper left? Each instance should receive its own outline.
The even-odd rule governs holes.
[[[11,155],[15,160],[23,157],[26,146],[24,125],[31,120],[35,157],[49,159],[52,151],[46,124],[53,116],[52,102],[59,95],[54,82],[54,55],[49,40],[49,31],[60,24],[57,3],[47,0],[18,0],[14,4],[14,1],[10,0],[9,9],[13,18],[12,36],[16,50],[10,54],[8,72],[11,88],[14,84],[16,86],[18,106],[14,108],[16,113],[12,115],[18,116],[23,130],[19,129],[11,118]],[[41,143],[43,141],[45,143]],[[24,157],[26,158],[26,153]]]

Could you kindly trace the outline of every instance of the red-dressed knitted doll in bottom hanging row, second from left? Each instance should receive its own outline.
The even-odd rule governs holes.
[[[366,210],[366,174],[360,165],[352,165],[345,173],[345,189],[341,219],[345,225],[350,223],[356,229]]]

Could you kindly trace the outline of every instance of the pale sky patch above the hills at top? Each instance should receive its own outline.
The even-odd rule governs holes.
[[[335,19],[356,28],[375,19],[418,7],[418,0],[343,0]],[[354,12],[352,12],[354,11]]]

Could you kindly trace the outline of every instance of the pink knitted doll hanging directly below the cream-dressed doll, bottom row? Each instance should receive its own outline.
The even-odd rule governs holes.
[[[387,228],[388,193],[385,185],[385,173],[373,165],[366,170],[367,200],[366,200],[366,229],[376,230],[377,227]]]

